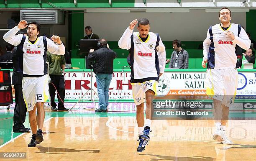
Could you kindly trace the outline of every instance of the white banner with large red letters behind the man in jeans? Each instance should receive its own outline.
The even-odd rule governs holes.
[[[109,86],[109,100],[133,100],[132,85],[130,84],[130,72],[114,72]],[[92,77],[92,82],[91,82]],[[70,72],[64,74],[65,100],[91,100],[90,89],[92,85],[92,97],[98,100],[97,83],[95,73]],[[57,97],[55,97],[56,99]]]

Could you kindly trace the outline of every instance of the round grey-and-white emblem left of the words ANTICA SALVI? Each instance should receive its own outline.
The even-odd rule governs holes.
[[[162,74],[158,82],[157,95],[158,97],[163,97],[170,91],[170,80],[166,74]]]

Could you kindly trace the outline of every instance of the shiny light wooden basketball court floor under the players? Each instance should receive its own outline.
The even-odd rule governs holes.
[[[31,133],[17,135],[5,130],[9,134],[4,136],[13,138],[1,143],[0,152],[26,152],[26,159],[1,160],[253,161],[256,158],[256,120],[229,121],[227,135],[233,145],[212,140],[212,120],[154,120],[151,141],[145,151],[137,153],[135,116],[136,113],[128,112],[47,111],[44,141],[28,148]],[[11,117],[1,118],[1,129],[10,129],[10,122]]]

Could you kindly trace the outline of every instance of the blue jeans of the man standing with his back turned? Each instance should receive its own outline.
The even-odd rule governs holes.
[[[108,89],[112,74],[96,74],[97,90],[99,95],[99,107],[106,110],[108,107]]]

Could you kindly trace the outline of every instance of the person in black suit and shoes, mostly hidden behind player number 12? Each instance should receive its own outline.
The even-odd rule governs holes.
[[[18,56],[17,47],[13,49],[13,77],[12,84],[15,89],[15,107],[13,112],[13,132],[14,133],[27,133],[30,128],[25,128],[23,123],[26,119],[27,107],[23,99],[22,92],[22,79],[23,79],[23,58]],[[20,52],[19,50],[17,52]]]

